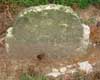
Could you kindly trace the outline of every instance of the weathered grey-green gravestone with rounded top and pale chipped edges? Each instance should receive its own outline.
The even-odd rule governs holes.
[[[80,18],[67,6],[30,7],[18,15],[13,30],[8,29],[7,51],[12,57],[43,53],[54,59],[67,58],[86,51],[89,37],[85,29]]]

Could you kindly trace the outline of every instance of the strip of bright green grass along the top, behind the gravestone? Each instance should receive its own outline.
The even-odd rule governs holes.
[[[49,3],[67,6],[77,4],[80,8],[86,8],[90,4],[100,4],[100,0],[0,0],[0,3],[13,3],[26,7],[44,5]]]

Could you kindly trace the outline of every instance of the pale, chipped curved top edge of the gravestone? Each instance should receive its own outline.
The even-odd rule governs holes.
[[[40,5],[40,6],[34,6],[34,7],[32,6],[32,7],[26,8],[19,13],[18,17],[23,17],[25,16],[25,14],[28,14],[30,12],[36,13],[36,12],[41,12],[45,10],[61,10],[62,12],[71,13],[72,15],[79,18],[79,16],[77,16],[77,14],[73,12],[72,8],[68,6],[56,5],[56,4]]]

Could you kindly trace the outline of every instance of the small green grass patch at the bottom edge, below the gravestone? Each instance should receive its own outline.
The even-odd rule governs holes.
[[[28,74],[22,74],[20,80],[47,80],[47,78],[43,75],[30,76]]]

